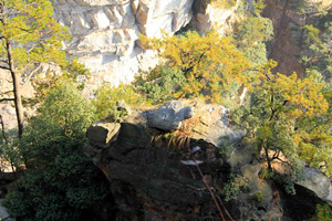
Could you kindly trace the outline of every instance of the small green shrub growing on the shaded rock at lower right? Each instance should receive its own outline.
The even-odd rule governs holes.
[[[225,183],[222,188],[222,194],[225,196],[225,201],[237,199],[240,191],[249,188],[249,181],[241,176],[231,175],[228,182]]]

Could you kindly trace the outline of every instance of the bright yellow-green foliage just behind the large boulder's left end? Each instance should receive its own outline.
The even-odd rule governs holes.
[[[124,101],[129,105],[137,105],[144,99],[135,92],[131,85],[121,84],[118,87],[103,85],[95,93],[93,101],[96,107],[96,117],[98,119],[110,117],[118,120],[123,113],[116,109],[116,102]]]

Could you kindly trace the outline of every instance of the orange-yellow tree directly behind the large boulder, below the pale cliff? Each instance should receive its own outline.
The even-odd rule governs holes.
[[[248,84],[242,72],[249,64],[236,49],[230,38],[221,38],[216,31],[199,35],[188,31],[183,35],[165,34],[163,39],[142,35],[146,49],[160,50],[166,66],[180,70],[187,84],[178,90],[177,96],[201,96],[212,103],[221,102],[221,93],[230,85]]]

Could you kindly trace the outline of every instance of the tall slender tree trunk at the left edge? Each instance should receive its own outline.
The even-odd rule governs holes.
[[[17,120],[18,120],[18,135],[19,138],[22,137],[23,134],[23,105],[21,99],[21,87],[20,87],[20,76],[17,74],[14,69],[14,61],[12,57],[12,51],[11,51],[11,43],[8,39],[6,39],[6,48],[7,48],[7,56],[8,56],[8,63],[9,63],[9,71],[12,78],[12,86],[13,86],[13,94],[14,94],[14,104],[15,104],[15,113],[17,113]]]

